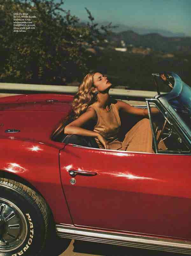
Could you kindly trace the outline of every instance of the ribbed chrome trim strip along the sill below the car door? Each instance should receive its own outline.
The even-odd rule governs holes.
[[[97,231],[63,224],[56,225],[56,234],[62,238],[191,254],[191,242],[172,238],[157,238],[109,231]]]

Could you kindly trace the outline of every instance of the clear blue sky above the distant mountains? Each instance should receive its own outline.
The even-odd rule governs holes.
[[[62,8],[87,20],[137,28],[162,29],[191,36],[191,0],[64,0]],[[59,2],[59,0],[56,0]]]

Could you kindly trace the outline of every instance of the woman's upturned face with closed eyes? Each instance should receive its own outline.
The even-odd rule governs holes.
[[[98,90],[98,92],[104,92],[107,89],[110,89],[112,84],[110,83],[110,81],[107,79],[106,76],[97,72],[94,74],[94,85],[95,85],[95,88]]]

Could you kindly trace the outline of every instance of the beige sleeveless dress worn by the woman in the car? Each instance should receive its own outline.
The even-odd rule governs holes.
[[[121,120],[115,104],[111,103],[109,110],[99,109],[94,104],[88,108],[90,107],[97,114],[97,124],[93,131],[100,133],[108,141],[110,149],[153,153],[152,130],[149,119],[144,118],[139,121],[126,133],[124,140],[119,141],[117,133],[121,126]],[[104,148],[97,138],[95,140],[99,148]]]

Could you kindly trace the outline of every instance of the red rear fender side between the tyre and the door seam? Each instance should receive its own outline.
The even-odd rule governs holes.
[[[59,149],[42,143],[1,139],[0,170],[30,182],[46,199],[56,223],[72,224],[60,183]]]

